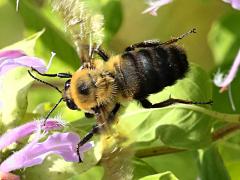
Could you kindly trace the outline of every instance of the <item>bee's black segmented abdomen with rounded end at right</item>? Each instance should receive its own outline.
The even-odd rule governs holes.
[[[121,64],[122,74],[127,77],[126,84],[135,83],[135,99],[173,85],[185,76],[189,68],[185,52],[174,45],[126,52],[122,55]]]

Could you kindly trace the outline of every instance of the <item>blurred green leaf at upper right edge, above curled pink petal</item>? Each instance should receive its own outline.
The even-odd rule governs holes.
[[[208,40],[217,65],[232,62],[236,56],[240,41],[239,21],[239,12],[232,11],[213,24]]]

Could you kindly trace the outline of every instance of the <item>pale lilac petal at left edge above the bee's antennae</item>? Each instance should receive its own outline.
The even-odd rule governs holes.
[[[0,51],[0,76],[19,66],[33,67],[39,72],[44,73],[48,70],[54,55],[52,54],[49,65],[46,66],[42,59],[27,56],[19,50]]]

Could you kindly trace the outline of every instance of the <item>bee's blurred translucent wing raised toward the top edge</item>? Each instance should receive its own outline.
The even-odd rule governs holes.
[[[87,0],[53,0],[52,5],[62,16],[82,63],[90,62],[93,49],[103,41],[103,15],[91,9]]]

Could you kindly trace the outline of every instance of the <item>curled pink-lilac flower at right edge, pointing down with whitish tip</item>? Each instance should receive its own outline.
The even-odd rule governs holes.
[[[218,71],[214,76],[213,82],[216,86],[221,87],[220,92],[224,92],[225,90],[227,90],[228,86],[231,84],[237,74],[239,65],[240,50],[238,51],[238,54],[233,62],[231,69],[229,70],[229,73],[227,75],[224,75],[223,73]]]

